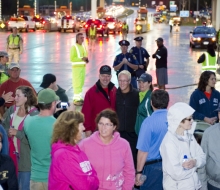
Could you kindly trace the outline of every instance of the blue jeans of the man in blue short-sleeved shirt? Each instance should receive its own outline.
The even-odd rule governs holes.
[[[147,179],[140,190],[163,190],[162,162],[144,166],[143,174]]]

